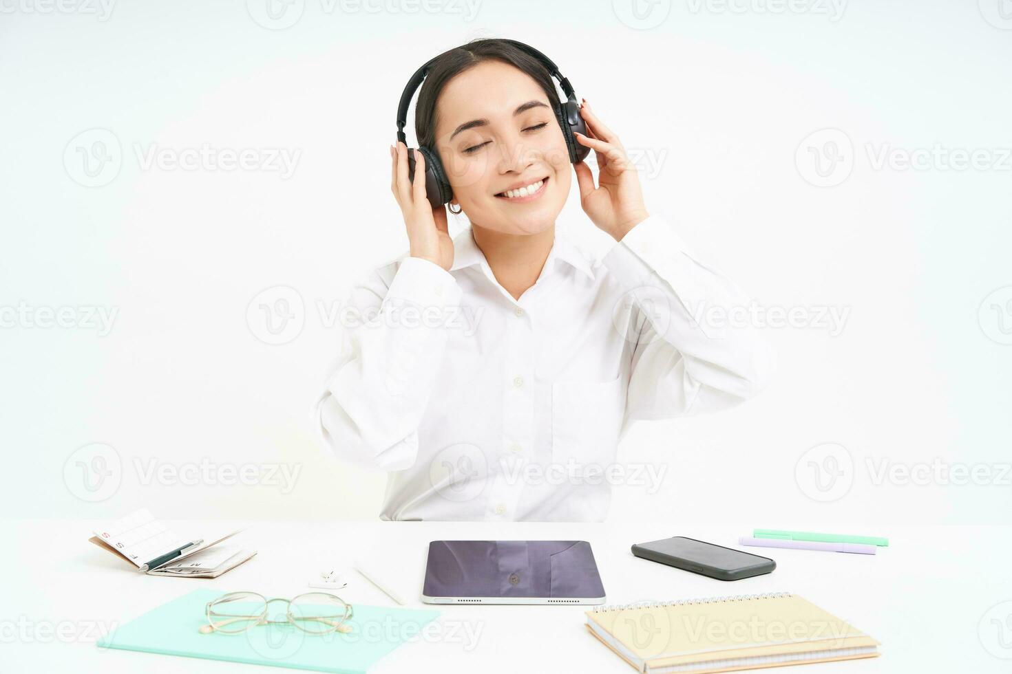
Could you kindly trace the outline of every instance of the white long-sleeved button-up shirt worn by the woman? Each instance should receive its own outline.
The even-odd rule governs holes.
[[[600,261],[557,230],[519,299],[468,228],[450,271],[405,255],[352,289],[314,423],[389,472],[382,519],[602,520],[632,420],[765,385],[766,341],[713,318],[749,302],[657,215]]]

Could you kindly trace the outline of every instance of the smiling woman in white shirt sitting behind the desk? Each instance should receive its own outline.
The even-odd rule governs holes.
[[[601,520],[634,419],[729,407],[765,384],[751,326],[692,310],[749,299],[648,213],[618,136],[586,103],[599,184],[581,205],[614,246],[585,256],[556,231],[572,184],[545,68],[480,39],[441,55],[419,93],[419,146],[437,148],[471,227],[450,238],[426,199],[424,157],[391,148],[409,253],[345,306],[341,352],[314,417],[335,454],[389,472],[383,519]],[[712,315],[707,313],[706,315]]]

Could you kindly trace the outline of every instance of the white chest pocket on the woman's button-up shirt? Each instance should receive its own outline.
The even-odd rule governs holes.
[[[625,408],[621,375],[607,382],[552,384],[552,461],[614,462]]]

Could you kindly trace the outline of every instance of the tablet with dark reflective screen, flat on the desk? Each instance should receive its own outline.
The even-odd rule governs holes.
[[[600,604],[604,586],[586,541],[433,541],[422,601]]]

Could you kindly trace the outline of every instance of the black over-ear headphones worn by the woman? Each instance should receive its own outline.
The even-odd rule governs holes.
[[[546,56],[535,50],[534,47],[524,44],[523,42],[518,42],[515,39],[504,40],[516,45],[517,47],[523,50],[530,56],[541,62],[549,70],[549,75],[559,80],[559,84],[562,85],[563,91],[566,93],[566,102],[560,105],[554,105],[556,119],[559,120],[559,125],[563,129],[563,137],[566,138],[566,147],[569,149],[570,162],[572,164],[577,164],[582,162],[587,155],[590,154],[590,148],[587,146],[581,146],[577,142],[576,137],[573,135],[574,131],[587,134],[587,128],[584,124],[583,117],[580,116],[580,104],[576,100],[576,93],[573,91],[573,85],[569,83],[562,73],[559,72],[559,67],[552,63],[552,60]],[[443,53],[445,54],[445,52]],[[442,54],[439,55],[441,57]],[[403,142],[405,146],[408,145],[408,140],[404,135],[404,125],[408,123],[408,106],[411,105],[411,99],[415,95],[415,90],[422,84],[422,80],[428,75],[429,68],[439,57],[430,59],[424,66],[415,71],[415,74],[411,76],[408,80],[408,86],[404,88],[404,93],[401,94],[401,103],[397,106],[397,139]],[[429,203],[432,204],[433,208],[438,208],[439,206],[449,203],[450,199],[453,198],[453,190],[450,188],[449,181],[446,179],[446,174],[443,171],[442,164],[439,162],[439,155],[431,148],[419,148],[418,152],[421,153],[422,157],[425,158],[425,194],[429,198]],[[415,175],[415,157],[411,149],[408,149],[408,177],[414,179]],[[455,212],[455,211],[454,211]]]

